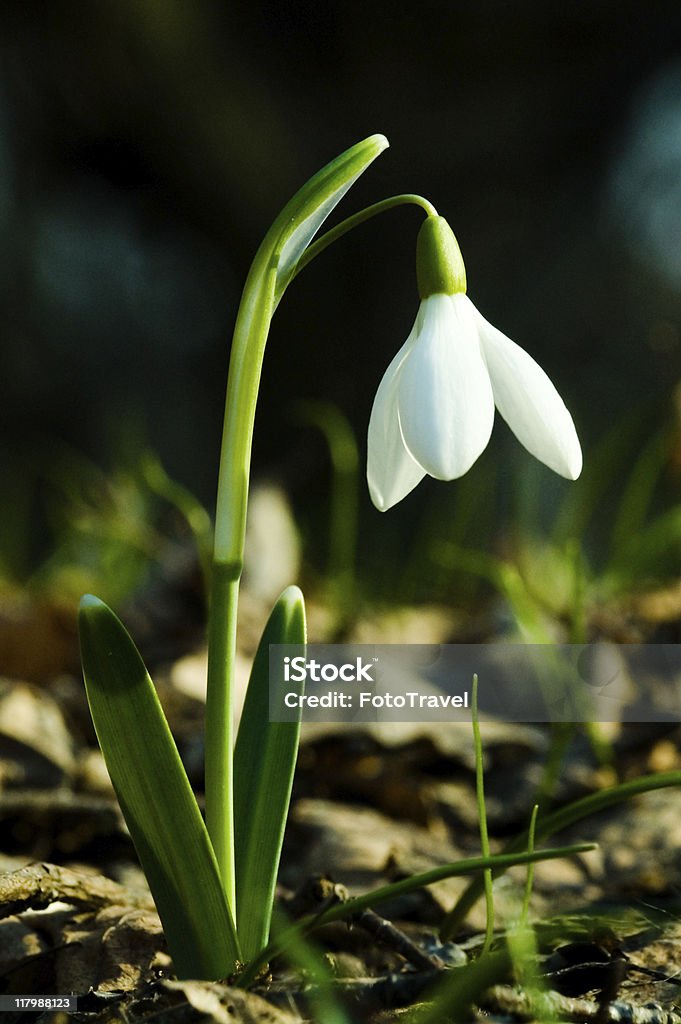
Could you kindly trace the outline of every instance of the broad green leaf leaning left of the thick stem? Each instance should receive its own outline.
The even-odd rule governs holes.
[[[175,971],[225,978],[240,949],[213,848],[144,664],[102,601],[81,600],[85,688],[99,745]]]

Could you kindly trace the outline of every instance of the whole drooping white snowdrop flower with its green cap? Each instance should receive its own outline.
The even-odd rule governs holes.
[[[542,368],[466,295],[461,252],[443,217],[428,217],[419,232],[417,274],[416,323],[369,423],[374,505],[385,512],[426,474],[463,476],[490,440],[495,406],[531,455],[576,480],[582,450],[571,416]]]

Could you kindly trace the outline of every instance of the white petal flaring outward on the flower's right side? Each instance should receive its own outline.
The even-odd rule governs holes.
[[[554,472],[576,480],[582,472],[582,449],[565,403],[531,355],[471,306],[497,409],[531,455]]]

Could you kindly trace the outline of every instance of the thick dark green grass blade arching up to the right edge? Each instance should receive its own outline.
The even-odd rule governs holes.
[[[599,793],[592,793],[588,797],[567,804],[565,807],[547,814],[541,818],[536,825],[536,838],[546,839],[567,828],[577,821],[588,818],[591,814],[597,814],[608,807],[621,804],[625,800],[630,800],[642,793],[649,793],[652,790],[663,790],[670,785],[681,785],[681,771],[656,772],[653,775],[643,775],[641,778],[631,779],[622,782],[608,790]],[[517,836],[504,848],[505,854],[512,854],[516,850],[526,849],[527,831]],[[494,868],[493,868],[494,869]],[[468,911],[482,894],[482,884],[479,879],[474,879],[468,888],[461,894],[456,906],[450,911],[440,929],[440,937],[443,940],[451,939],[459,926],[465,920]]]

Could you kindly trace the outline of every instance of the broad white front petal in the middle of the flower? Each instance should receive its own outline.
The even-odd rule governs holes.
[[[473,312],[465,295],[425,299],[399,375],[405,443],[439,480],[463,476],[492,433],[495,404]]]

